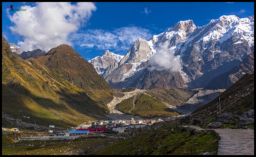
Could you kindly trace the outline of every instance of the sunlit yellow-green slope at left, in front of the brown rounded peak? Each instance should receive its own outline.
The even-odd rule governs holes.
[[[97,118],[89,114],[104,116],[104,113],[108,112],[105,103],[93,101],[87,96],[87,91],[79,89],[67,80],[61,80],[60,83],[52,77],[52,72],[36,59],[28,59],[26,62],[13,55],[7,44],[6,42],[2,44],[2,111],[4,113],[22,118],[28,123],[70,127],[88,120],[97,121]],[[96,90],[93,93],[99,95],[104,92]],[[23,115],[30,118],[23,118]],[[8,125],[10,123],[7,121],[3,123],[3,126]]]

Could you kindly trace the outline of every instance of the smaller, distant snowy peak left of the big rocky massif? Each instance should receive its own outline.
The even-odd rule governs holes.
[[[106,50],[101,56],[90,59],[88,62],[93,64],[93,67],[96,69],[99,75],[102,75],[107,67],[114,63],[117,64],[123,57],[124,56]]]

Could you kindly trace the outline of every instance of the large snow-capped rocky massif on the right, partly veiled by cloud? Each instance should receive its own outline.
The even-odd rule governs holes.
[[[103,77],[114,88],[203,88],[254,50],[254,16],[221,16],[196,27],[177,22],[150,40],[138,39]]]

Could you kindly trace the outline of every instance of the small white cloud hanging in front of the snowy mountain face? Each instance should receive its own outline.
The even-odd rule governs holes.
[[[169,70],[171,72],[177,72],[180,70],[182,60],[180,58],[175,58],[172,50],[169,49],[169,45],[170,42],[168,40],[159,44],[157,52],[154,56],[149,58],[149,70]]]

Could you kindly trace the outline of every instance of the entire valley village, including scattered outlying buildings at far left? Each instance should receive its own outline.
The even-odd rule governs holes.
[[[151,126],[154,123],[170,121],[172,118],[153,118],[153,119],[140,119],[134,120],[111,120],[111,121],[94,121],[90,127],[76,127],[76,130],[63,132],[58,131],[54,125],[49,125],[48,129],[42,135],[37,137],[21,137],[20,141],[32,141],[32,140],[52,140],[56,139],[72,139],[83,137],[83,136],[96,136],[96,135],[116,135],[125,132],[125,130],[133,130],[135,128],[144,128],[145,126]],[[12,128],[9,131],[20,132],[18,128]],[[44,138],[42,138],[44,137]]]

